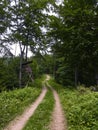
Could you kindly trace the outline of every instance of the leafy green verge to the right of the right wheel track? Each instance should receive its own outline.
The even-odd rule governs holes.
[[[60,95],[68,130],[98,130],[98,93],[68,89],[50,81]]]

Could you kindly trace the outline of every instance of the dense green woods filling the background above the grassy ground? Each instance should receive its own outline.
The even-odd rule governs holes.
[[[98,84],[97,0],[1,0],[0,16],[0,91],[43,73],[66,86]]]

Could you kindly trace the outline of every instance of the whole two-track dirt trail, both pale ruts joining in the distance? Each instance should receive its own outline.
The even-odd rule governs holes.
[[[42,89],[42,92],[39,95],[39,97],[35,100],[35,102],[29,108],[27,108],[21,116],[16,117],[13,121],[11,121],[4,130],[22,130],[24,128],[27,121],[34,114],[35,110],[37,109],[39,104],[43,101],[47,93],[48,89],[47,87],[45,87],[45,83],[47,84],[46,86],[48,86],[53,92],[53,96],[55,99],[55,107],[54,107],[53,114],[51,115],[52,120],[50,122],[49,130],[67,130],[66,121],[65,121],[59,96],[57,92],[47,83],[49,79],[50,76],[47,75],[47,78],[43,83],[44,87]]]

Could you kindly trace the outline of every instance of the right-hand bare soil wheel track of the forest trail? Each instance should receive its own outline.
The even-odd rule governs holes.
[[[57,92],[51,88],[55,99],[55,108],[52,115],[52,121],[50,124],[50,130],[67,130],[67,123],[62,110],[59,96]]]

